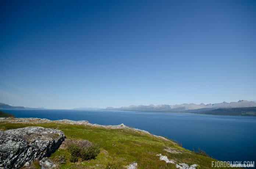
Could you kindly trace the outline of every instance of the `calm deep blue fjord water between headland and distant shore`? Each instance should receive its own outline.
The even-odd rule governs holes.
[[[93,124],[125,124],[178,140],[221,161],[255,161],[256,117],[132,111],[4,110],[15,117],[88,120]]]

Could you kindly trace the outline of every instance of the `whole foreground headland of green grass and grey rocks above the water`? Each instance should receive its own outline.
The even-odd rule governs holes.
[[[7,144],[5,137],[0,137],[3,151],[0,167],[207,169],[211,168],[211,161],[217,161],[200,149],[195,152],[186,150],[171,139],[124,124],[113,126],[90,124],[88,121],[0,118],[0,129],[1,136],[15,140],[9,143],[8,139]],[[14,151],[15,145],[19,146]],[[74,151],[79,149],[74,145],[97,147],[86,149],[93,155],[87,152],[83,157],[88,158],[83,158],[74,155]],[[30,147],[30,151],[19,151],[26,150],[26,147]],[[17,156],[19,160],[14,159]]]

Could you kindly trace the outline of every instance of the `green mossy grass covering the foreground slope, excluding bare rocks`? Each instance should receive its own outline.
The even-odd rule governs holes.
[[[40,123],[40,124],[1,124],[1,129],[15,129],[26,126],[42,126],[46,128],[60,129],[67,139],[83,139],[92,143],[101,143],[100,153],[94,159],[87,161],[70,162],[71,156],[68,150],[57,149],[51,154],[50,159],[57,160],[64,157],[64,164],[59,168],[122,168],[136,161],[138,168],[175,168],[174,164],[166,164],[159,161],[156,154],[167,155],[177,164],[198,164],[200,169],[211,168],[211,161],[216,159],[186,150],[172,140],[163,140],[152,135],[133,131],[130,129],[105,129],[85,125]],[[164,151],[166,147],[176,148],[182,153],[169,153]],[[176,168],[175,168],[176,169]]]

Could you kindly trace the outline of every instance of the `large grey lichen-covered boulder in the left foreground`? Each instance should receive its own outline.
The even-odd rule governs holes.
[[[60,130],[43,127],[0,132],[0,168],[20,168],[35,158],[48,157],[64,137]]]

